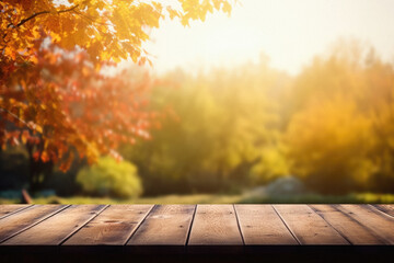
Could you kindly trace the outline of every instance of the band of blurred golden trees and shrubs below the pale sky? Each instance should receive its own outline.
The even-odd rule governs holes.
[[[143,73],[130,68],[121,78]],[[126,197],[240,193],[293,176],[320,194],[394,193],[394,61],[381,60],[371,46],[338,41],[298,76],[271,68],[262,55],[258,64],[177,69],[161,78],[149,107],[165,117],[151,139],[121,144],[124,161],[103,158],[91,170],[85,159],[66,173],[48,162],[42,190]],[[26,186],[22,146],[2,150],[0,162],[0,191]],[[97,175],[96,191],[88,190],[83,174],[97,171],[109,175]],[[108,186],[106,178],[117,179]]]

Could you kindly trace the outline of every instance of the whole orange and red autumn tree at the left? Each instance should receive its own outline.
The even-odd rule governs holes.
[[[0,3],[0,144],[24,144],[31,159],[31,188],[40,167],[67,170],[73,151],[94,162],[118,157],[116,148],[149,138],[157,113],[148,111],[146,76],[125,81],[104,77],[103,67],[131,58],[149,61],[142,44],[164,18],[184,25],[208,12],[231,12],[224,0],[38,1]],[[153,122],[152,122],[153,121]]]

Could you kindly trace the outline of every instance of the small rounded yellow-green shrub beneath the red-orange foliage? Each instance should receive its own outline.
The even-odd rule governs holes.
[[[137,168],[127,161],[117,162],[109,157],[79,171],[77,182],[86,194],[120,198],[138,197],[142,193]]]

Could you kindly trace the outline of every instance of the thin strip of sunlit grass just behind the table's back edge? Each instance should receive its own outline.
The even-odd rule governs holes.
[[[341,196],[305,194],[281,197],[195,194],[141,197],[138,199],[49,196],[33,198],[33,202],[35,204],[393,204],[394,194],[359,193]],[[0,198],[0,204],[18,203],[20,199]]]

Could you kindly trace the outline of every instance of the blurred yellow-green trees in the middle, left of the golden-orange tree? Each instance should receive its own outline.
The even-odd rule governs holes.
[[[175,116],[163,122],[154,140],[123,151],[139,167],[148,194],[159,193],[158,182],[161,193],[240,188],[251,182],[257,163],[266,169],[256,170],[255,178],[282,172],[263,158],[264,148],[275,148],[279,139],[271,89],[282,73],[262,61],[195,77],[175,71],[166,78],[177,88],[153,91],[152,104],[170,105]]]

